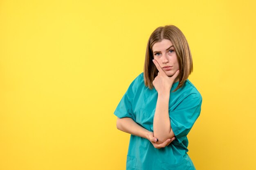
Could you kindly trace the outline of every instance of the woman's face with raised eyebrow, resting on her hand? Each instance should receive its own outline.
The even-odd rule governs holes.
[[[152,50],[154,59],[159,63],[167,76],[171,77],[177,70],[179,70],[176,51],[169,39],[163,39],[160,42],[156,42],[153,45]],[[163,68],[164,66],[168,66],[168,68]],[[178,80],[179,76],[177,76],[175,82]]]

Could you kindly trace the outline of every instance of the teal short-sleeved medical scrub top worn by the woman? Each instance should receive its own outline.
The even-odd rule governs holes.
[[[178,83],[173,83],[171,91]],[[176,139],[168,146],[157,149],[148,139],[130,135],[126,170],[195,170],[187,154],[187,135],[200,115],[202,96],[189,79],[176,92],[171,91],[169,118]],[[114,114],[119,118],[132,118],[153,132],[157,95],[155,88],[150,90],[145,86],[142,72],[132,81]]]

